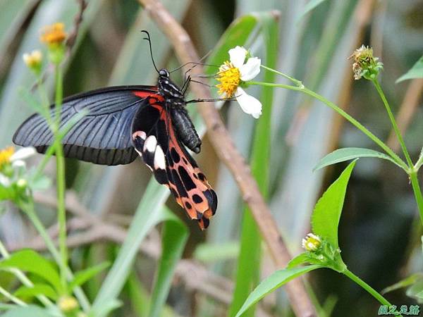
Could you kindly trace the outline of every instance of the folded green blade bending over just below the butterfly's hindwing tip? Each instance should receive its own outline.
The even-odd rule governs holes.
[[[185,224],[171,211],[164,209],[167,221],[161,232],[161,259],[157,270],[152,300],[150,302],[150,317],[162,316],[161,311],[166,303],[166,298],[171,289],[173,273],[176,264],[182,256],[185,243],[188,240],[188,229]]]

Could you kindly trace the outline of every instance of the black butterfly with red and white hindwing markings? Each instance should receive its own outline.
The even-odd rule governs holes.
[[[216,192],[207,182],[188,149],[200,153],[198,137],[185,106],[185,92],[159,70],[157,86],[106,87],[63,99],[61,127],[77,113],[88,111],[63,137],[68,158],[114,166],[133,162],[137,156],[168,187],[188,216],[203,230],[217,208]],[[51,106],[54,118],[54,106]],[[23,147],[45,153],[54,141],[47,120],[35,113],[13,136]]]

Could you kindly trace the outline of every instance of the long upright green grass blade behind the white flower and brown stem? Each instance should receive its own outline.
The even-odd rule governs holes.
[[[278,48],[277,18],[271,13],[262,13],[262,34],[266,46],[267,66],[276,67]],[[264,73],[264,80],[274,82],[274,73]],[[264,87],[262,90],[263,113],[257,121],[255,139],[252,147],[251,169],[257,180],[257,185],[264,198],[269,196],[269,161],[271,142],[271,106],[273,103],[273,89]],[[241,231],[240,256],[235,280],[235,292],[229,308],[229,316],[235,316],[247,299],[252,287],[257,285],[260,272],[261,237],[259,229],[251,215],[250,209],[245,209]],[[245,316],[255,316],[255,306],[251,306]]]

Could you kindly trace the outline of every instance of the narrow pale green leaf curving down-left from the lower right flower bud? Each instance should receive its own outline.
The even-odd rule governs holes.
[[[269,277],[264,279],[256,288],[252,291],[250,296],[247,298],[241,309],[236,313],[235,317],[241,316],[250,306],[259,302],[260,299],[276,290],[278,287],[286,284],[290,280],[297,278],[300,275],[316,270],[317,268],[323,268],[323,266],[312,265],[312,266],[301,266],[298,268],[285,268],[280,271],[276,271]]]

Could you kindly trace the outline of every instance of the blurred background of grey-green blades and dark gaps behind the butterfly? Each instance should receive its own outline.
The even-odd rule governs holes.
[[[381,139],[389,139],[398,151],[376,91],[365,80],[353,80],[348,61],[357,47],[373,46],[374,55],[384,63],[382,87],[394,113],[401,113],[405,142],[412,158],[417,159],[423,136],[423,112],[419,107],[423,82],[396,84],[396,79],[422,56],[423,1],[327,0],[307,13],[309,1],[304,0],[162,2],[183,23],[200,56],[214,48],[235,18],[255,11],[278,11],[279,32],[274,39],[278,46],[277,69],[344,108]],[[152,36],[158,67],[180,66],[168,40],[137,1],[90,0],[87,4],[78,40],[66,60],[65,96],[108,85],[154,85],[157,73],[140,30],[148,30]],[[44,25],[63,21],[71,30],[78,10],[78,1],[71,0],[0,0],[1,148],[11,144],[13,132],[32,112],[20,94],[20,89],[31,89],[35,84],[22,61],[23,53],[40,47],[39,29]],[[252,43],[251,49],[256,56],[264,56],[260,42]],[[265,60],[263,63],[266,65]],[[53,70],[47,68],[50,88],[52,74]],[[182,82],[183,77],[174,73],[173,79]],[[250,92],[255,95],[254,89]],[[319,159],[340,147],[376,148],[329,108],[296,92],[276,89],[272,111],[269,205],[290,251],[297,254],[301,251],[301,237],[309,232],[309,216],[317,198],[345,168],[340,163],[313,172]],[[221,108],[221,116],[236,146],[248,159],[255,120],[229,102]],[[219,208],[209,229],[200,232],[173,198],[166,203],[190,230],[166,316],[226,316],[231,302],[243,202],[231,174],[219,163],[207,133],[203,144],[195,159],[216,189]],[[33,163],[37,161],[39,157]],[[140,160],[117,167],[67,160],[66,168],[68,200],[76,212],[84,209],[121,229],[120,235],[102,232],[90,236],[90,225],[71,222],[71,265],[82,268],[104,259],[113,261],[151,178],[150,171]],[[47,173],[54,175],[54,162]],[[39,216],[47,226],[54,225],[56,219],[51,197],[53,188],[36,194]],[[412,189],[405,173],[388,161],[357,162],[339,232],[345,263],[376,290],[422,268],[422,232]],[[0,218],[0,238],[6,246],[12,250],[27,246],[34,235],[25,217],[7,205]],[[126,304],[113,316],[143,316],[142,299],[149,296],[159,254],[159,228],[149,234],[141,249],[121,294]],[[263,249],[262,277],[275,269]],[[326,316],[376,316],[379,305],[350,280],[328,270],[315,271],[308,278]],[[87,283],[85,290],[90,298],[101,282],[100,276]],[[404,290],[386,297],[398,306],[415,304]],[[292,316],[283,291],[266,297],[256,315]]]

